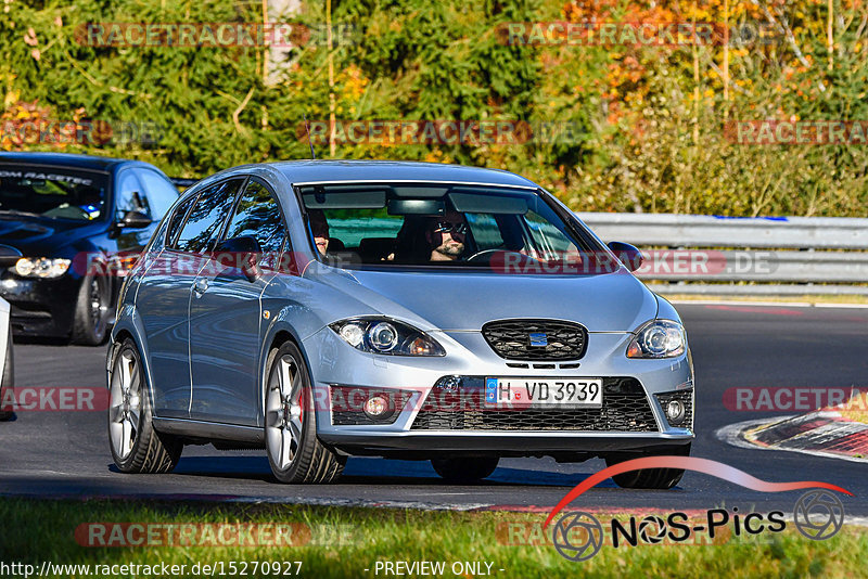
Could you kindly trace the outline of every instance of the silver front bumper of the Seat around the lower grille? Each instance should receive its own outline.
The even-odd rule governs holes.
[[[329,329],[305,340],[305,351],[318,352],[316,359],[308,358],[307,362],[315,382],[320,439],[349,453],[556,455],[650,450],[686,445],[694,438],[693,372],[689,355],[666,360],[628,359],[625,352],[633,334],[592,333],[585,356],[578,361],[569,361],[577,363],[578,368],[562,369],[560,363],[553,364],[553,369],[534,368],[534,363],[528,363],[528,368],[520,369],[507,365],[508,361],[494,353],[480,333],[432,335],[446,348],[445,357],[398,358],[363,353],[349,347]],[[419,429],[418,421],[421,420],[420,413],[425,412],[425,401],[430,400],[432,391],[437,391],[435,385],[444,376],[472,376],[477,381],[475,384],[481,376],[550,379],[580,376],[631,381],[640,388],[637,400],[647,404],[644,421],[638,421],[642,427],[635,430],[625,426],[623,420],[617,429],[612,430],[601,427],[600,421],[590,421],[593,425],[587,429],[576,429],[583,428],[576,425],[535,429],[527,421],[524,421],[524,426],[508,425],[496,429],[489,421],[483,427],[485,429],[480,429],[473,425],[485,423],[490,414],[475,408],[472,411],[481,410],[482,413],[475,414],[473,421],[446,421],[452,426],[432,428],[429,424],[425,429]],[[409,399],[390,424],[335,424],[341,422],[335,421],[332,399],[332,388],[335,387],[403,390]],[[679,393],[690,403],[689,420],[678,426],[669,424],[658,397],[673,393]],[[358,404],[353,410],[360,412]],[[451,409],[444,412],[449,411]],[[521,412],[516,410],[514,413],[518,422],[522,422],[519,420]],[[585,422],[580,422],[577,415],[576,424],[590,424],[587,420],[589,412],[582,412]],[[561,421],[563,417],[564,414],[560,414]],[[456,428],[455,424],[461,426]]]

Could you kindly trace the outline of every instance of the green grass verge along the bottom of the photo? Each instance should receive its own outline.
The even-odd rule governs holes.
[[[665,513],[663,514],[665,516]],[[641,516],[644,516],[642,514]],[[253,562],[302,562],[302,577],[411,577],[386,575],[376,570],[376,562],[444,562],[439,577],[480,577],[468,567],[454,572],[454,563],[474,562],[478,569],[493,577],[866,577],[868,531],[863,527],[845,526],[835,537],[812,541],[795,529],[779,533],[763,533],[760,539],[730,538],[724,544],[668,544],[613,548],[603,544],[591,559],[574,563],[563,558],[551,544],[533,543],[534,533],[545,515],[539,513],[505,512],[420,512],[410,510],[373,510],[332,506],[299,506],[289,504],[240,504],[154,501],[55,501],[0,498],[0,562],[25,563],[40,569],[43,562],[65,565],[90,565],[84,569],[66,569],[51,576],[64,577],[144,577],[159,576],[143,572],[100,574],[95,565],[184,565],[178,576],[213,575],[215,577],[284,576],[259,567]],[[603,523],[611,517],[599,515]],[[624,517],[618,517],[624,518]],[[189,545],[125,545],[82,546],[99,540],[88,536],[94,527],[89,524],[271,524],[291,525],[295,537],[281,546],[189,546]],[[82,526],[84,525],[84,526]],[[510,536],[506,529],[518,525],[521,532]],[[207,525],[205,525],[207,526]],[[106,525],[105,528],[110,528]],[[98,527],[102,529],[102,527]],[[118,527],[119,528],[119,527]],[[151,527],[153,529],[155,527]],[[259,527],[261,528],[261,527]],[[301,532],[307,528],[309,532]],[[78,529],[78,535],[76,535]],[[84,529],[84,530],[82,530]],[[531,529],[528,531],[528,529]],[[533,530],[537,529],[537,530]],[[546,531],[547,537],[551,528]],[[144,535],[132,533],[126,527],[125,538],[102,535],[108,542],[138,541]],[[607,530],[608,532],[608,530]],[[99,536],[99,533],[95,533]],[[275,537],[272,532],[268,537]],[[156,537],[156,536],[155,536]],[[168,535],[154,542],[177,542]],[[199,540],[204,535],[196,535]],[[225,536],[231,539],[231,533]],[[261,536],[260,536],[261,537]],[[541,537],[538,536],[537,537]],[[284,536],[285,540],[286,536]],[[146,540],[146,539],[145,539]],[[189,538],[188,538],[189,540]],[[222,562],[222,574],[219,567]],[[242,568],[241,562],[247,566]],[[490,563],[490,570],[485,564]],[[200,564],[200,572],[192,567]],[[230,563],[235,564],[231,574]],[[203,572],[203,564],[218,566],[214,572]],[[367,571],[365,569],[368,569]],[[503,570],[500,570],[503,569]],[[104,569],[103,569],[104,570]],[[118,571],[123,569],[117,568]],[[289,567],[294,575],[296,567]],[[406,572],[406,569],[405,569]],[[0,572],[0,575],[11,575]],[[17,574],[17,576],[23,576]],[[419,574],[418,576],[421,576]],[[43,575],[44,577],[44,575]]]

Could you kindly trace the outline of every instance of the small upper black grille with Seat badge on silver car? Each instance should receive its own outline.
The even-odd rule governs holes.
[[[558,320],[499,320],[483,325],[482,335],[507,360],[577,360],[588,344],[583,325]]]

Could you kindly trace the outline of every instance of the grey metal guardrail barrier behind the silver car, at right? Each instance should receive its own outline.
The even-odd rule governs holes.
[[[868,219],[728,218],[669,214],[578,213],[603,241],[641,249],[715,248],[730,267],[705,274],[650,268],[655,292],[717,295],[868,295]],[[719,250],[718,250],[719,249]],[[762,267],[751,267],[762,263]],[[739,267],[739,260],[748,260]]]

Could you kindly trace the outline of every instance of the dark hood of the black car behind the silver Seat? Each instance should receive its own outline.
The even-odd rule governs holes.
[[[93,221],[47,219],[0,213],[0,244],[20,249],[25,256],[53,257],[63,246],[102,229]]]

